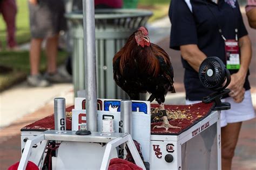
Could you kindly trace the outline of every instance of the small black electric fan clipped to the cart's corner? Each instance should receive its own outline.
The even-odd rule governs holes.
[[[221,102],[220,99],[230,93],[230,89],[225,89],[230,83],[230,72],[224,63],[216,56],[206,58],[199,68],[199,79],[207,89],[215,91],[203,98],[204,103],[215,102],[213,110],[230,109],[230,103]]]

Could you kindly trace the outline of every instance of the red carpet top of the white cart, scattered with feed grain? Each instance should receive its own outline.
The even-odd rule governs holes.
[[[158,104],[151,104],[151,113],[158,110]],[[201,119],[204,119],[211,112],[213,103],[197,103],[191,105],[165,105],[167,117],[169,123],[173,126],[179,126],[180,129],[170,128],[166,131],[164,128],[153,129],[155,125],[161,125],[163,122],[151,123],[151,134],[180,134],[187,130]],[[66,108],[66,112],[71,112],[74,107]],[[71,130],[72,121],[70,116],[66,117],[66,130]],[[45,117],[39,121],[29,124],[21,129],[21,131],[45,131],[53,130],[54,127],[54,115]]]

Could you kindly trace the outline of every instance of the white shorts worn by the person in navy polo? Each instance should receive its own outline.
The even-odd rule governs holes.
[[[255,117],[250,90],[245,91],[245,98],[241,103],[235,103],[232,97],[224,98],[221,101],[228,102],[231,104],[230,110],[221,110],[220,112],[221,127],[226,126],[228,123],[248,121]],[[186,104],[194,104],[199,102],[201,101],[186,100]]]

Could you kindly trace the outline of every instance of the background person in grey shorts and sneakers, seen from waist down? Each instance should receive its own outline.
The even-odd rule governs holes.
[[[59,31],[66,29],[64,18],[64,0],[30,0],[30,75],[28,84],[35,87],[46,87],[50,83],[67,82],[65,76],[57,72],[57,50]],[[47,70],[44,76],[39,73],[39,61],[43,40],[46,40],[45,52]]]

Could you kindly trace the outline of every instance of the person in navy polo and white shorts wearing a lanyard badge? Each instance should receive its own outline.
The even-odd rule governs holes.
[[[231,72],[231,109],[221,111],[222,169],[231,169],[242,121],[255,117],[248,67],[252,57],[251,41],[235,0],[172,0],[170,47],[181,51],[185,68],[186,103],[202,100],[213,91],[199,81],[198,70],[207,56],[218,56]],[[232,42],[232,43],[231,43]],[[228,52],[230,44],[236,52]],[[234,60],[233,60],[234,59]]]

